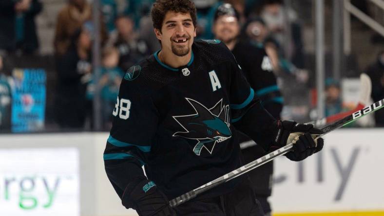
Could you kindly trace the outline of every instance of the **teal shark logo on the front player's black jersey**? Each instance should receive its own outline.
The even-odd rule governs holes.
[[[215,144],[221,143],[232,136],[229,123],[229,105],[223,106],[223,99],[221,99],[209,109],[195,100],[185,99],[191,104],[196,113],[173,116],[173,119],[185,130],[176,132],[173,136],[197,140],[197,144],[193,147],[193,152],[196,155],[200,155],[203,149],[212,154]]]

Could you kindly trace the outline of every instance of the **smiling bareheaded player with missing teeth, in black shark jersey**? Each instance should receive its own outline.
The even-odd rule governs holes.
[[[140,216],[263,215],[244,176],[176,208],[168,200],[241,166],[238,130],[266,150],[292,142],[300,132],[288,153],[294,160],[322,148],[323,140],[316,144],[310,135],[320,131],[276,121],[225,44],[193,40],[192,1],[157,0],[151,15],[161,50],[126,72],[104,152],[107,176],[123,206]]]

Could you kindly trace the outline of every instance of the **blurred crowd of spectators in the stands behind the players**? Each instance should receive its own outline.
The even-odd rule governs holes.
[[[298,14],[283,0],[194,0],[197,8],[197,39],[213,39],[213,15],[223,2],[231,3],[240,14],[241,36],[264,46],[275,75],[284,89],[313,87],[306,70],[303,26]],[[67,0],[56,17],[54,34],[55,101],[54,122],[59,128],[92,128],[95,85],[101,88],[103,128],[109,130],[111,113],[124,72],[160,49],[149,16],[154,0],[100,0],[96,32],[93,5],[87,0]],[[39,40],[35,19],[42,11],[40,0],[0,0],[0,111],[9,106],[7,82],[12,67],[7,56],[38,54]],[[101,78],[95,80],[92,64],[93,40],[98,35],[101,47]],[[372,78],[372,98],[384,98],[384,53],[367,69]],[[303,89],[298,89],[300,90]],[[326,112],[342,111],[340,86],[328,81]],[[300,95],[297,95],[299,98]],[[307,99],[307,98],[306,98]],[[287,100],[289,103],[289,99]],[[294,98],[290,103],[296,103]],[[5,117],[8,116],[8,117]],[[0,130],[9,127],[9,113],[1,111]],[[297,120],[297,121],[300,121]],[[376,115],[384,126],[384,115]]]

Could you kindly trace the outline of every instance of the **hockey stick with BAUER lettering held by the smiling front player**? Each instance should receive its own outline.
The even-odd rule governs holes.
[[[318,139],[319,137],[322,137],[324,136],[326,133],[329,133],[330,131],[332,130],[335,130],[339,127],[342,127],[342,126],[346,126],[347,124],[350,124],[354,121],[356,121],[357,119],[371,113],[371,112],[374,112],[374,111],[377,111],[379,110],[380,108],[383,108],[384,107],[384,99],[374,103],[374,104],[371,104],[370,106],[366,107],[366,108],[363,108],[361,110],[358,110],[354,113],[352,113],[351,115],[349,116],[346,116],[345,118],[331,124],[331,125],[328,125],[324,128],[322,128],[321,130],[323,131],[322,134],[318,134],[316,135],[316,138],[315,139]],[[177,198],[174,198],[172,200],[170,200],[170,206],[171,207],[175,207],[175,206],[178,206],[192,198],[195,198],[197,195],[207,191],[207,190],[210,190],[211,188],[219,185],[219,184],[222,184],[224,182],[227,182],[229,180],[232,180],[236,177],[239,177],[249,171],[251,171],[252,169],[258,167],[258,166],[261,166],[269,161],[272,161],[273,159],[275,159],[277,156],[280,156],[280,155],[284,155],[286,154],[287,152],[289,152],[290,150],[292,150],[293,148],[293,143],[290,143],[286,146],[283,146],[253,162],[250,162],[244,166],[241,166],[235,170],[233,170],[232,172],[230,173],[227,173],[225,174],[224,176],[222,177],[219,177],[215,180],[212,180],[196,189],[193,189],[192,191],[188,192],[188,193],[185,193]]]

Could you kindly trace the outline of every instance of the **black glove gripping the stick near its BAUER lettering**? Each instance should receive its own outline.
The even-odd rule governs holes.
[[[313,140],[311,134],[321,134],[320,129],[314,128],[313,125],[297,124],[291,121],[277,122],[277,135],[275,143],[279,147],[294,143],[292,151],[286,154],[287,158],[292,161],[302,161],[313,153],[323,149],[324,140],[322,138]]]

